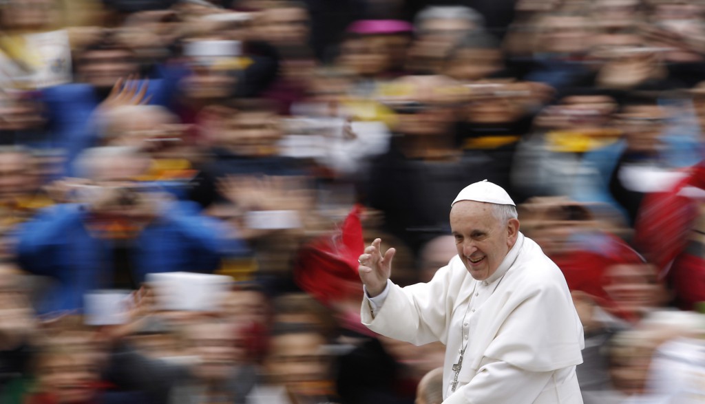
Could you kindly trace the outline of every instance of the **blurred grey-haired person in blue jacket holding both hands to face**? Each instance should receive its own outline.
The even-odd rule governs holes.
[[[149,163],[130,147],[88,149],[76,162],[82,179],[61,185],[66,203],[20,228],[21,267],[56,280],[39,312],[80,310],[88,290],[135,288],[147,273],[214,271],[244,252],[224,224],[138,182]]]

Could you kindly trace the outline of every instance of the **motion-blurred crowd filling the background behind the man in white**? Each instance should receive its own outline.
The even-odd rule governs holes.
[[[704,130],[702,1],[1,1],[0,403],[440,403],[357,257],[428,281],[483,179],[584,401],[703,403]]]

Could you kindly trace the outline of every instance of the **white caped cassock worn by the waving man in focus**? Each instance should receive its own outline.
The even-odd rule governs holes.
[[[575,376],[582,324],[560,269],[522,233],[486,281],[455,256],[429,283],[388,281],[381,295],[363,300],[361,314],[384,336],[446,344],[444,404],[582,403]]]

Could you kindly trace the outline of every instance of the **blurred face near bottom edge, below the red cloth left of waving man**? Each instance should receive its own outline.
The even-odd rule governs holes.
[[[271,339],[266,369],[277,384],[296,385],[326,379],[321,347],[326,343],[318,333],[289,333]]]

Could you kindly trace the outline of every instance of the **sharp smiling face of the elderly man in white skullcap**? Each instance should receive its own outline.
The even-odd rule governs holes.
[[[450,209],[450,228],[458,255],[473,278],[484,281],[495,273],[517,240],[519,221],[504,224],[491,204],[460,201]]]

